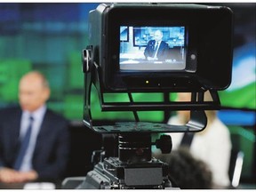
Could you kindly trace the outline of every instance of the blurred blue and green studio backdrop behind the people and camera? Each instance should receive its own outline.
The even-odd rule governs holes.
[[[95,138],[100,140],[100,136],[82,124],[84,76],[81,52],[88,43],[88,12],[97,5],[0,3],[0,108],[17,105],[20,76],[32,69],[42,71],[52,89],[48,106],[71,122],[73,150],[68,176],[84,176],[92,169],[92,150],[100,148],[100,142],[93,142]],[[228,90],[220,92],[222,109],[218,116],[228,125],[233,148],[244,152],[240,184],[254,188],[256,4],[220,5],[229,6],[235,14],[235,40],[232,84]],[[122,95],[114,99],[126,100]],[[156,100],[163,100],[162,95],[156,94]],[[99,113],[95,112],[95,117],[100,118],[100,107],[97,110]],[[166,116],[160,112],[154,116],[143,115],[145,120],[166,121]],[[104,118],[122,116],[126,113],[119,113],[118,116],[108,113]],[[75,152],[76,148],[79,148],[79,153]]]

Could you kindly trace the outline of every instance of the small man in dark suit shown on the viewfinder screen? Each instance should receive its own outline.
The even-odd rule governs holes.
[[[156,30],[154,40],[150,40],[144,51],[147,60],[164,61],[168,59],[169,45],[163,41],[163,32]]]

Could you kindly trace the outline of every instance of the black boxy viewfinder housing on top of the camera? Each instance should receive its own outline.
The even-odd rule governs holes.
[[[126,37],[120,35],[122,28],[127,28]],[[129,58],[125,63],[122,53],[130,52],[122,52],[124,42],[132,41],[140,49],[143,44],[136,44],[138,38],[144,35],[146,40],[145,35],[150,36],[157,28],[163,29],[170,39],[175,38],[175,29],[184,31],[178,34],[180,39],[176,38],[182,40],[180,63],[129,63]],[[100,4],[90,12],[89,38],[93,60],[100,66],[104,92],[195,92],[223,90],[230,84],[232,30],[232,12],[227,7]]]

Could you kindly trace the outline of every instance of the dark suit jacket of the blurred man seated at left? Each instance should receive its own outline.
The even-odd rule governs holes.
[[[18,155],[21,113],[20,108],[0,110],[0,166],[12,168]],[[39,179],[61,179],[68,151],[68,121],[47,109],[32,159]]]

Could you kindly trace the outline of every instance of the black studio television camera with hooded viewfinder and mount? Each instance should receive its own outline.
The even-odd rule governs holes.
[[[231,82],[232,14],[223,6],[146,3],[100,4],[89,13],[89,45],[83,51],[84,124],[102,135],[115,134],[118,156],[101,153],[100,162],[76,188],[172,188],[167,165],[152,157],[151,134],[200,132],[207,124],[204,110],[220,108],[217,91]],[[169,49],[164,60],[147,60],[145,49],[154,49],[156,30]],[[102,111],[132,111],[135,120],[104,124],[93,119],[92,86]],[[212,101],[204,100],[206,91]],[[109,92],[125,92],[130,100],[107,102],[104,95]],[[192,94],[189,102],[138,102],[134,92]],[[137,111],[157,110],[190,110],[190,120],[184,125],[140,122]],[[171,152],[169,136],[153,144]]]

